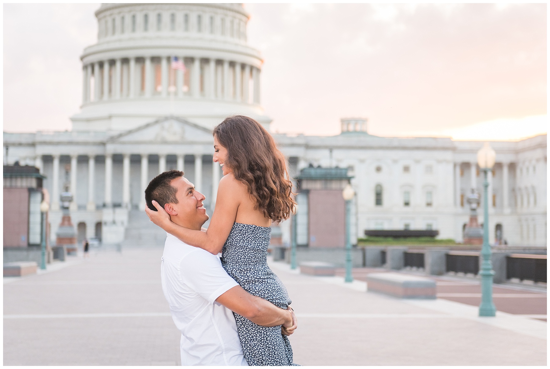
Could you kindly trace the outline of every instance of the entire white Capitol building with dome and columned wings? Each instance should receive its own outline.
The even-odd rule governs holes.
[[[80,56],[83,90],[75,93],[82,105],[73,129],[4,133],[4,164],[29,164],[45,175],[52,243],[64,190],[74,195],[81,239],[139,243],[144,190],[165,170],[184,170],[212,214],[221,178],[212,128],[233,114],[270,126],[261,106],[263,59],[247,43],[249,14],[241,4],[102,4],[95,14],[98,40]],[[184,71],[172,68],[174,57]],[[335,124],[342,127],[337,136],[273,136],[292,177],[310,166],[348,168],[355,239],[372,229],[431,229],[463,241],[467,196],[482,193],[476,153],[483,142],[377,137],[361,118]],[[546,135],[491,146],[491,243],[546,245]],[[307,245],[315,236],[300,217],[307,196],[298,202],[298,244]],[[288,244],[290,222],[274,233]]]

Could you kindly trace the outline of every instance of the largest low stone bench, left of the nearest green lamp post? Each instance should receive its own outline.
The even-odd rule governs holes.
[[[367,274],[367,291],[403,299],[435,299],[436,282],[401,273],[370,273]]]

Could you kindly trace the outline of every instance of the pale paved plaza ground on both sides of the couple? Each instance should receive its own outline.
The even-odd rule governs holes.
[[[160,284],[161,248],[92,250],[4,278],[4,365],[179,365]],[[546,365],[546,322],[460,302],[400,300],[366,283],[271,262],[287,286],[301,365]]]

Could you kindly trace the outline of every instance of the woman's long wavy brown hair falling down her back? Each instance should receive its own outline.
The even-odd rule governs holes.
[[[292,197],[284,156],[273,137],[256,120],[244,115],[226,118],[213,131],[227,148],[227,165],[235,179],[244,183],[267,218],[281,222],[290,217],[296,204]]]

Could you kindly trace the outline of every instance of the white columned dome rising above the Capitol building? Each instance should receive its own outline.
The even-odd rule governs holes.
[[[161,117],[211,129],[232,114],[271,122],[260,106],[260,52],[242,4],[102,4],[86,47],[74,131],[113,134]],[[171,67],[183,60],[185,71]]]

